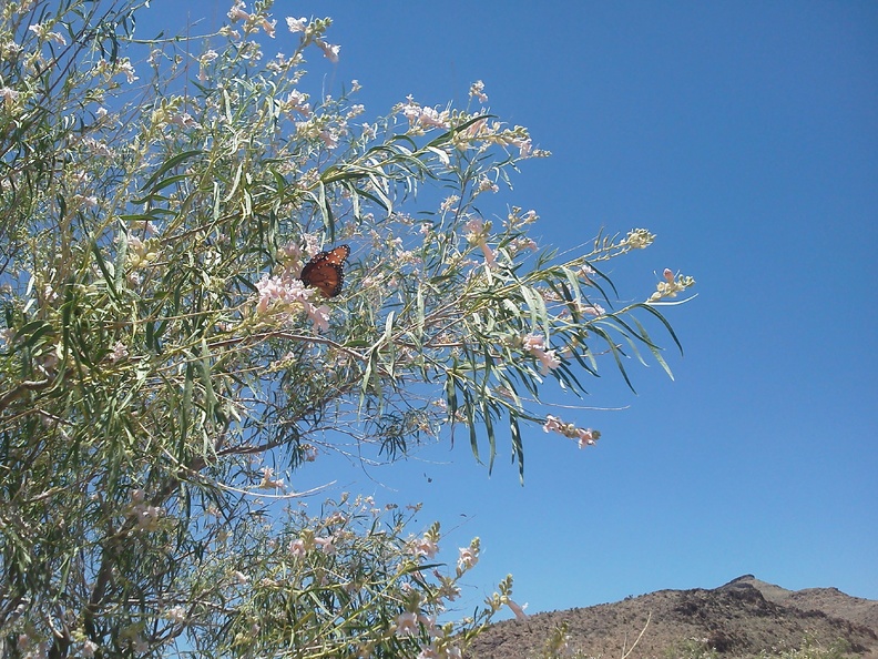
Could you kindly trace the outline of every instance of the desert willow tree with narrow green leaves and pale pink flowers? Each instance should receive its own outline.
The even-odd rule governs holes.
[[[478,540],[438,566],[438,526],[309,510],[282,472],[455,427],[488,466],[511,443],[523,467],[527,424],[593,443],[540,412],[544,382],[664,364],[646,326],[676,343],[657,305],[692,282],[617,308],[601,262],[649,232],[563,261],[533,212],[487,216],[543,153],[481,83],[366,123],[356,82],[306,93],[328,20],[238,3],[214,34],[137,41],[141,10],[0,10],[2,653],[460,657],[510,604],[504,581],[437,622]]]

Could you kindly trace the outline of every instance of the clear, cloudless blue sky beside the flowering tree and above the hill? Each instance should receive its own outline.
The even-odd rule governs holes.
[[[141,27],[176,31],[186,13],[215,27],[229,4],[156,0]],[[524,487],[506,446],[489,477],[466,442],[372,479],[315,467],[294,485],[422,501],[451,548],[480,536],[467,604],[508,572],[530,612],[747,572],[878,599],[877,3],[337,0],[275,14],[267,55],[293,50],[285,16],[333,17],[340,61],[312,51],[310,83],[337,94],[358,79],[366,121],[409,93],[466,103],[483,80],[492,112],[553,152],[503,196],[539,212],[542,244],[645,226],[656,244],[614,262],[623,294],[645,296],[665,267],[698,293],[668,312],[685,348],[668,355],[675,382],[634,367],[633,396],[608,368],[586,404],[627,408],[565,413],[603,432],[583,452],[528,433]]]

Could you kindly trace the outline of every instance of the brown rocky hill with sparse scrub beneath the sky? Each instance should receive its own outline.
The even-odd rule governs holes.
[[[649,619],[649,626],[646,626]],[[849,655],[878,659],[878,601],[836,588],[786,590],[745,575],[705,590],[658,590],[615,604],[507,620],[477,638],[473,659],[535,659],[552,630],[568,626],[569,647],[588,657],[619,658],[646,626],[629,659],[668,659],[686,643],[721,658],[799,648],[805,638],[824,647],[839,640]]]

